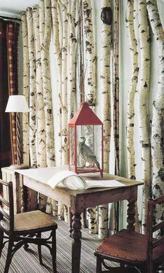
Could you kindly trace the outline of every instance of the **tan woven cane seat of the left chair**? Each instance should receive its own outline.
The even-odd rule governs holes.
[[[52,218],[43,213],[42,211],[29,211],[22,214],[16,214],[14,218],[14,231],[15,232],[29,232],[45,228],[51,230],[57,223]],[[1,228],[8,231],[10,226],[7,219],[1,220]]]

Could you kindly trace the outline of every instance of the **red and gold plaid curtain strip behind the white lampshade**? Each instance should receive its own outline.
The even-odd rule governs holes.
[[[8,48],[8,92],[18,94],[17,79],[17,45],[19,38],[20,25],[17,22],[8,22],[7,25],[7,48]],[[17,163],[17,144],[16,144],[16,121],[15,113],[10,113],[10,136],[13,163]]]

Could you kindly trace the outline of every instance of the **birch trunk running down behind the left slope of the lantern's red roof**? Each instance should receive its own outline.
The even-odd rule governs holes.
[[[70,12],[68,14],[69,25],[69,59],[68,59],[68,121],[73,118],[75,103],[75,71],[77,38],[75,34],[76,1],[70,0]]]

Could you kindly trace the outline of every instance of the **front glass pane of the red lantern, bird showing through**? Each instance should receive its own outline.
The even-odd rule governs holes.
[[[77,170],[101,169],[102,126],[77,125]]]

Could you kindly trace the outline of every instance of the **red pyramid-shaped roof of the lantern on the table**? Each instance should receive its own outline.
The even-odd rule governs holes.
[[[103,125],[103,123],[90,109],[89,104],[83,102],[75,116],[71,118],[69,125]]]

